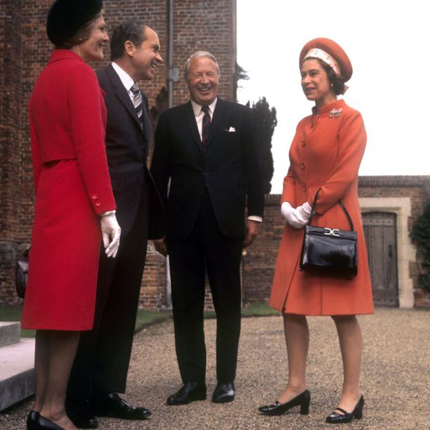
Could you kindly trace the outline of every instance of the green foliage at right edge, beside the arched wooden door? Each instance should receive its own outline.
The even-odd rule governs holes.
[[[425,274],[418,277],[418,283],[430,291],[430,201],[424,206],[423,214],[413,223],[410,236],[422,255],[422,268],[426,270]]]

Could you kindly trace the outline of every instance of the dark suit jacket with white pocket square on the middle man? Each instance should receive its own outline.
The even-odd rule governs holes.
[[[263,172],[249,107],[218,98],[205,152],[191,101],[166,110],[156,127],[151,171],[166,209],[169,239],[191,234],[205,187],[225,236],[245,235],[246,199],[248,216],[263,217]]]

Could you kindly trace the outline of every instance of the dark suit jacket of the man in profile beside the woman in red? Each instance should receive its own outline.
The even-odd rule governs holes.
[[[116,201],[116,218],[122,234],[130,232],[142,192],[148,190],[149,237],[162,238],[165,236],[164,211],[154,181],[146,167],[151,142],[147,97],[142,94],[145,116],[142,129],[130,96],[112,65],[97,70],[96,75],[101,89],[105,92],[107,163]]]

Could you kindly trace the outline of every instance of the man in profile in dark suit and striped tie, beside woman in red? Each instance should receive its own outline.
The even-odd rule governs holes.
[[[101,252],[94,328],[81,335],[68,385],[68,415],[81,428],[96,428],[95,416],[150,415],[116,393],[125,392],[147,239],[165,235],[161,201],[146,167],[148,102],[136,85],[152,79],[163,61],[158,36],[128,21],[114,30],[110,48],[112,63],[96,74],[105,92],[107,162],[122,235],[116,258]]]

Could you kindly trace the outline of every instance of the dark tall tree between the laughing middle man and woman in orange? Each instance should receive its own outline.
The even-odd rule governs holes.
[[[247,106],[250,107],[248,101]],[[252,114],[256,125],[258,141],[260,142],[261,160],[263,163],[263,179],[265,194],[272,190],[272,176],[274,174],[274,164],[272,156],[272,136],[278,120],[276,119],[276,109],[269,107],[265,97],[258,99],[257,103],[252,103]]]

